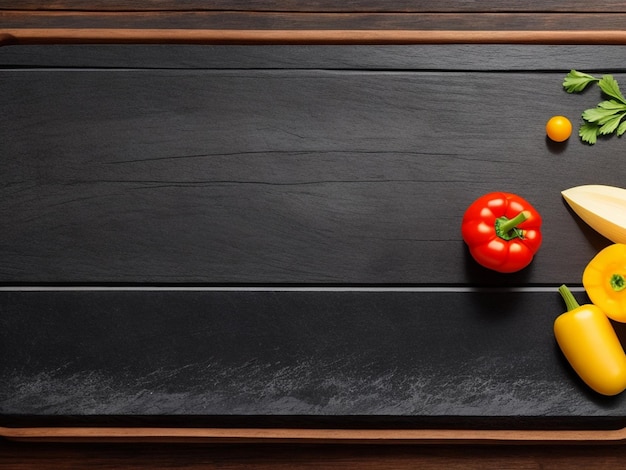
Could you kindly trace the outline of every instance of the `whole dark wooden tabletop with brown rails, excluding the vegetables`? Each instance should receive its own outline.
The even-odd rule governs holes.
[[[607,244],[558,190],[621,185],[625,170],[611,157],[623,143],[555,146],[543,123],[560,113],[575,120],[597,101],[563,93],[569,68],[623,79],[626,10],[610,1],[356,3],[0,1],[10,117],[0,145],[11,156],[1,214],[12,227],[0,270],[1,424],[262,429],[277,422],[254,412],[287,406],[296,412],[281,417],[287,430],[350,423],[398,434],[380,445],[4,440],[0,468],[619,467],[623,437],[611,433],[623,427],[622,400],[587,393],[549,327],[563,308],[551,289],[579,285],[586,260]],[[478,269],[456,231],[465,204],[494,186],[537,201],[546,221],[532,269],[508,277]],[[435,217],[437,207],[447,212]],[[494,296],[520,287],[529,290],[494,321]],[[176,320],[175,305],[188,322]],[[152,322],[151,311],[163,316]],[[280,323],[263,333],[268,320]],[[416,345],[420,322],[434,334]],[[371,347],[381,325],[387,343]],[[168,331],[184,341],[168,342]],[[455,335],[458,351],[450,331],[467,333]],[[521,339],[498,337],[511,331]],[[222,357],[231,341],[256,362]],[[305,367],[307,357],[317,362]],[[427,374],[430,404],[417,403],[407,387],[428,363],[446,370]],[[207,371],[228,376],[215,381],[228,399],[206,400],[198,377]],[[516,396],[502,398],[520,371]],[[299,401],[281,402],[287,390]],[[107,393],[112,401],[94,405]],[[236,420],[220,416],[229,407]],[[324,419],[302,418],[316,414]],[[475,437],[517,434],[497,445],[497,434],[460,435],[466,443],[451,445],[459,423]],[[420,424],[443,432],[443,444],[394,444]],[[589,430],[608,434],[594,445]],[[585,442],[559,442],[567,436]]]

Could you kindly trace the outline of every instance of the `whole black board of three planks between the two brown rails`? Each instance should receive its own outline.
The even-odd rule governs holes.
[[[544,124],[624,49],[432,47],[1,48],[0,424],[623,426],[551,331],[608,244],[560,191],[623,141]],[[493,190],[544,217],[509,276]]]

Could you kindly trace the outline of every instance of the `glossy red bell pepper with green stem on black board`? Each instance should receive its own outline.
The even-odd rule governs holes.
[[[463,216],[461,233],[474,259],[501,273],[530,264],[541,245],[541,216],[525,199],[494,192],[474,201]]]

